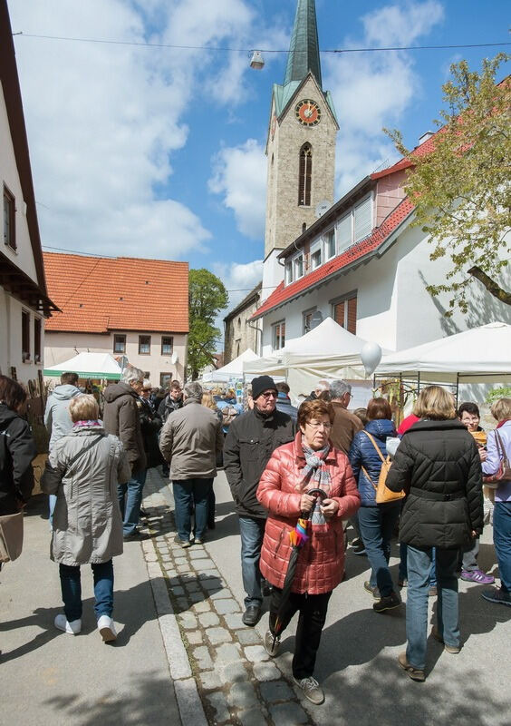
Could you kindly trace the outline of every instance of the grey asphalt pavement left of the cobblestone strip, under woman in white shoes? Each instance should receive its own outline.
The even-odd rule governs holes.
[[[82,633],[72,636],[53,626],[62,600],[49,544],[47,497],[39,495],[24,518],[22,556],[0,572],[0,722],[179,726],[140,544],[125,544],[124,554],[114,558],[114,620],[119,632],[114,645],[102,643],[96,628],[89,566],[82,567]],[[154,583],[164,586],[161,573]]]

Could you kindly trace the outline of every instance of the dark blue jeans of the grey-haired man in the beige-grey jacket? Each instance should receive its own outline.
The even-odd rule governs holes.
[[[198,539],[203,539],[207,527],[209,495],[213,486],[213,478],[175,479],[172,485],[179,539],[183,542],[188,542],[190,538],[191,512],[194,506],[195,536]]]

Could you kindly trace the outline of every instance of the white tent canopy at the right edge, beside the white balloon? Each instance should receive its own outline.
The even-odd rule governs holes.
[[[437,383],[511,382],[511,325],[488,323],[381,358],[376,375]]]

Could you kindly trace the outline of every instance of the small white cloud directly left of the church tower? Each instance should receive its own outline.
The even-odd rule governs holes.
[[[266,157],[263,147],[248,139],[221,149],[213,160],[209,190],[221,194],[234,211],[237,229],[251,240],[265,235]]]

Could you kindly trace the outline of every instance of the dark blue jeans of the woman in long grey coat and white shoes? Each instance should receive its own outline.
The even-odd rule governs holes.
[[[113,612],[113,564],[111,560],[101,564],[92,564],[94,575],[94,613],[96,620],[101,615],[111,617]],[[64,613],[68,623],[82,617],[82,583],[80,567],[59,564],[61,589],[63,593]]]

